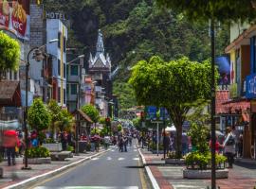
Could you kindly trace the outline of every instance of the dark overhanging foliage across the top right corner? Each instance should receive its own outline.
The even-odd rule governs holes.
[[[156,0],[165,8],[183,12],[192,20],[214,19],[221,22],[252,20],[256,17],[251,0]]]

